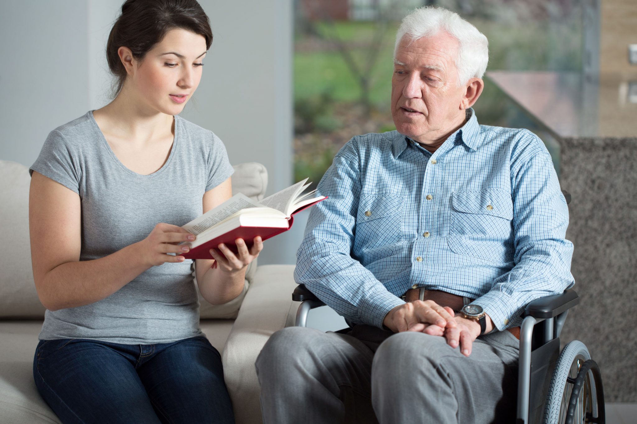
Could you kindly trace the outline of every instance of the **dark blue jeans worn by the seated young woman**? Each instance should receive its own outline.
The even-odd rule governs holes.
[[[157,345],[40,340],[38,391],[62,423],[234,423],[221,356],[203,336]]]

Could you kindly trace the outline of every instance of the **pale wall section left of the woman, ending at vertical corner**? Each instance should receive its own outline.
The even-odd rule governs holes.
[[[89,107],[87,2],[0,6],[0,159],[31,165],[47,134]]]

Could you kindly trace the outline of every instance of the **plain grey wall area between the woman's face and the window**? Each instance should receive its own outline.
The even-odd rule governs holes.
[[[274,193],[292,184],[292,2],[199,4],[214,38],[182,116],[217,133],[231,162],[266,165]]]

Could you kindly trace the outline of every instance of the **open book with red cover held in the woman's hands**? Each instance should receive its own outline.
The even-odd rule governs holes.
[[[179,254],[186,259],[212,259],[210,249],[217,249],[224,243],[233,249],[234,240],[243,238],[248,247],[256,236],[262,240],[283,233],[292,227],[294,214],[326,199],[326,196],[315,197],[316,190],[303,191],[310,186],[308,179],[297,182],[294,186],[279,191],[261,202],[255,202],[238,193],[216,208],[193,219],[182,228],[196,234],[194,242],[182,242],[190,245],[190,251]],[[233,249],[236,252],[236,249]]]

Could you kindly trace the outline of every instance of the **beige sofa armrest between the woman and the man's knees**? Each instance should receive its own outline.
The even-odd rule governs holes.
[[[243,299],[222,353],[225,385],[238,424],[261,424],[259,380],[254,363],[273,332],[294,325],[294,265],[261,265]]]

